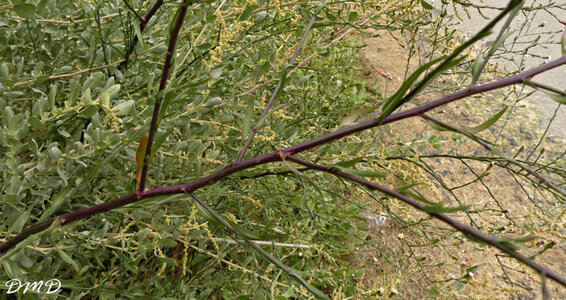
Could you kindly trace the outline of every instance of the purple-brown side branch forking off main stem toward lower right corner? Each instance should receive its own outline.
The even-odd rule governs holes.
[[[386,188],[384,186],[375,184],[375,183],[373,183],[373,182],[371,182],[367,179],[357,177],[357,176],[354,176],[352,174],[344,173],[344,172],[341,172],[341,171],[338,171],[338,170],[331,169],[327,166],[315,164],[315,163],[312,163],[310,161],[306,161],[306,160],[297,158],[297,157],[289,155],[289,154],[283,153],[283,155],[285,156],[285,159],[288,159],[290,161],[293,161],[293,162],[298,163],[300,165],[303,165],[305,167],[308,167],[308,168],[311,168],[311,169],[314,169],[314,170],[319,170],[319,171],[331,173],[331,174],[334,174],[336,176],[348,178],[348,179],[350,179],[354,182],[357,182],[357,183],[359,183],[359,184],[361,184],[361,185],[363,185],[363,186],[365,186],[369,189],[377,190],[377,191],[380,191],[380,192],[382,192],[386,195],[389,195],[391,197],[395,197],[395,198],[409,204],[410,206],[418,209],[419,211],[426,212],[431,217],[434,217],[434,218],[450,225],[454,229],[464,233],[466,236],[471,237],[473,240],[475,239],[475,240],[484,242],[486,244],[489,244],[489,245],[509,254],[513,258],[515,258],[515,259],[519,260],[520,262],[526,264],[527,266],[536,270],[537,272],[544,275],[545,277],[551,278],[554,281],[560,283],[562,286],[566,287],[566,278],[556,274],[554,271],[534,262],[533,260],[519,254],[515,250],[509,248],[504,243],[502,243],[500,239],[493,237],[493,236],[486,235],[486,234],[482,233],[481,231],[479,231],[479,230],[477,230],[477,229],[475,229],[471,226],[465,225],[463,223],[460,223],[460,222],[448,217],[445,214],[425,211],[425,205],[423,205],[421,202],[419,202],[419,201],[417,201],[417,200],[415,200],[415,199],[413,199],[413,198],[411,198],[411,197],[409,197],[405,194],[402,194],[402,193],[399,193],[395,190],[391,190],[391,189]]]

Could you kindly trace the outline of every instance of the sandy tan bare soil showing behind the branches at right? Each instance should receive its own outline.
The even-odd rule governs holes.
[[[400,35],[391,35],[388,32],[372,32],[375,37],[366,38],[367,47],[360,52],[365,67],[361,71],[361,78],[368,82],[367,89],[372,93],[384,96],[391,95],[403,82],[406,70],[414,69],[416,63],[408,65],[408,51],[403,47],[404,38]],[[441,96],[448,91],[439,89],[438,92],[420,97],[426,102]],[[490,115],[498,111],[497,101],[490,101],[486,97],[477,99],[464,99],[450,104],[435,114],[438,118],[462,127],[473,127]],[[540,128],[539,115],[528,107],[516,108],[512,119],[507,121],[504,134],[499,137],[499,144],[510,149],[520,146],[533,146],[537,138],[542,135],[544,128]],[[503,122],[500,120],[499,122]],[[494,126],[495,127],[495,126]],[[411,118],[394,123],[387,128],[383,145],[398,145],[399,140],[410,143],[415,135],[438,134],[420,118]],[[499,136],[498,130],[486,130],[481,136],[494,140]],[[454,149],[455,155],[492,156],[481,146],[466,141],[460,144],[452,140],[451,133],[442,133],[443,147],[440,149],[426,148],[425,153],[440,154]],[[547,147],[563,149],[560,139],[547,136],[544,139]],[[402,146],[400,146],[402,148]],[[550,151],[551,152],[551,151]],[[544,158],[541,158],[544,159]],[[515,180],[505,169],[498,166],[491,168],[489,175],[476,180],[477,175],[484,172],[489,163],[473,160],[458,160],[451,158],[421,158],[441,176],[449,187],[468,184],[462,188],[454,189],[454,195],[443,190],[438,182],[430,175],[424,175],[429,180],[429,188],[421,192],[450,206],[469,205],[477,213],[470,216],[453,214],[461,222],[476,223],[484,233],[516,237],[523,234],[533,234],[537,237],[527,243],[529,249],[521,251],[525,255],[535,254],[544,247],[545,243],[556,242],[551,250],[544,252],[536,261],[549,267],[558,274],[566,275],[566,239],[563,229],[566,217],[563,207],[553,207],[553,203],[546,203],[543,199],[552,199],[548,193],[536,191],[523,179]],[[390,168],[404,168],[401,162],[391,162]],[[413,170],[411,170],[413,171]],[[417,171],[414,171],[417,172]],[[395,179],[390,179],[393,184]],[[474,181],[475,180],[475,181]],[[426,185],[425,185],[426,186]],[[439,192],[440,191],[440,192]],[[363,196],[361,196],[363,197]],[[430,231],[415,230],[402,221],[420,220],[424,214],[414,209],[407,209],[405,205],[394,200],[389,203],[392,207],[390,213],[398,218],[389,218],[385,225],[371,229],[369,239],[372,239],[379,248],[361,247],[359,255],[352,257],[352,262],[365,270],[363,285],[368,289],[381,291],[382,296],[400,298],[423,298],[431,290],[431,281],[435,281],[441,297],[481,298],[481,299],[538,299],[541,298],[540,276],[514,259],[506,257],[499,250],[486,245],[473,243],[459,234],[449,235],[446,225],[437,221],[427,221]],[[562,214],[555,220],[548,219],[533,203],[544,206],[544,209],[554,209]],[[372,199],[366,204],[374,211],[383,208]],[[501,213],[500,211],[506,211]],[[395,219],[395,220],[394,220]],[[427,228],[421,226],[422,228]],[[527,230],[531,228],[531,230]],[[497,229],[497,230],[496,230]],[[488,230],[489,232],[486,232]],[[445,233],[442,239],[439,233]],[[439,238],[438,243],[431,243],[431,236]],[[411,247],[409,247],[411,245]],[[469,271],[472,266],[481,265],[476,270]],[[466,271],[469,271],[466,273]],[[458,288],[457,278],[463,284]],[[548,282],[548,289],[552,298],[566,299],[566,290],[559,285]]]

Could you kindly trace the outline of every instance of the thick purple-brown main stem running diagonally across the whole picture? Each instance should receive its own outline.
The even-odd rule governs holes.
[[[213,184],[214,182],[217,182],[220,179],[226,178],[226,177],[228,177],[228,176],[230,176],[230,175],[232,175],[232,174],[234,174],[238,171],[248,169],[248,168],[251,168],[251,167],[254,167],[254,166],[258,166],[258,165],[263,165],[263,164],[266,164],[266,163],[281,161],[286,156],[288,157],[290,155],[293,155],[293,154],[296,154],[296,153],[299,153],[299,152],[302,152],[302,151],[305,151],[305,150],[313,149],[313,148],[320,146],[320,145],[323,145],[323,144],[328,144],[332,141],[341,139],[345,136],[363,131],[365,129],[381,126],[381,125],[384,125],[384,124],[387,124],[387,123],[399,121],[399,120],[414,117],[414,116],[419,116],[419,115],[421,115],[421,114],[423,114],[427,111],[430,111],[434,108],[437,108],[437,107],[442,106],[442,105],[446,105],[450,102],[453,102],[453,101],[456,101],[456,100],[459,100],[459,99],[466,98],[466,97],[471,96],[471,95],[491,91],[491,90],[494,90],[494,89],[498,89],[498,88],[502,88],[502,87],[510,86],[510,85],[514,85],[514,84],[521,84],[524,80],[530,79],[537,74],[540,74],[542,72],[548,71],[550,69],[556,68],[556,67],[558,67],[560,65],[564,65],[564,64],[566,64],[566,56],[563,56],[563,57],[561,57],[561,58],[559,58],[555,61],[552,61],[548,64],[542,65],[538,68],[532,69],[530,71],[526,71],[524,73],[517,74],[517,75],[511,76],[511,77],[508,77],[508,78],[504,78],[504,79],[501,79],[501,80],[498,80],[498,81],[495,81],[495,82],[492,82],[492,83],[487,83],[487,84],[483,84],[483,85],[479,85],[479,86],[473,86],[473,87],[467,88],[465,90],[453,93],[451,95],[442,97],[438,100],[429,102],[427,104],[424,104],[424,105],[421,105],[421,106],[418,106],[418,107],[415,107],[415,108],[407,109],[407,110],[399,112],[399,113],[389,115],[381,123],[377,122],[376,119],[372,119],[372,120],[368,120],[368,121],[361,122],[361,123],[358,123],[358,124],[350,125],[350,126],[342,128],[342,129],[339,129],[337,131],[322,135],[322,136],[315,138],[313,140],[301,143],[301,144],[293,146],[293,147],[289,147],[289,148],[284,149],[282,151],[275,151],[275,152],[265,154],[265,155],[262,155],[262,156],[259,156],[259,157],[256,157],[256,158],[251,158],[251,159],[247,159],[247,160],[241,160],[241,161],[233,162],[233,163],[227,165],[226,167],[224,167],[223,169],[219,170],[218,172],[215,172],[213,174],[210,174],[208,176],[205,176],[203,178],[200,178],[200,179],[197,179],[197,180],[185,183],[185,184],[160,187],[160,188],[155,188],[155,189],[148,190],[148,191],[136,191],[135,193],[123,196],[123,197],[118,198],[118,199],[110,200],[110,201],[104,202],[104,203],[99,204],[99,205],[95,205],[95,206],[80,209],[80,210],[77,210],[77,211],[74,211],[74,212],[71,212],[71,213],[63,214],[63,215],[59,216],[58,219],[59,219],[59,221],[62,225],[65,225],[65,224],[70,223],[70,222],[75,221],[75,220],[87,218],[87,217],[93,216],[95,214],[103,213],[103,212],[106,212],[106,211],[109,211],[109,210],[112,210],[112,209],[115,209],[115,208],[118,208],[118,207],[122,207],[122,206],[127,205],[127,204],[135,203],[135,202],[142,200],[142,199],[151,198],[151,197],[155,197],[155,196],[163,196],[163,195],[192,193],[192,192],[196,191],[197,189],[199,189],[201,187]],[[148,153],[150,153],[150,152],[148,152]],[[146,154],[146,157],[147,157],[147,154]],[[391,192],[391,193],[393,193],[392,195],[394,195],[394,197],[399,196],[398,198],[403,200],[403,201],[405,201],[405,200],[408,200],[409,202],[414,201],[414,200],[412,200],[412,198],[407,198],[407,196],[399,194],[395,191],[386,190],[386,189],[382,189],[380,191]],[[404,198],[406,198],[406,199],[404,199]],[[409,202],[407,202],[407,203],[409,203]],[[409,203],[409,204],[413,205],[411,203]],[[416,202],[416,204],[420,204],[420,203]],[[453,226],[454,228],[456,228],[458,230],[462,229],[463,232],[467,232],[467,231],[465,231],[465,230],[468,230],[467,227],[458,227],[460,225],[462,225],[462,226],[466,226],[466,225],[463,225],[463,224],[460,224],[460,223],[454,223],[455,221],[451,220],[448,217],[443,217],[443,216],[444,215],[439,214],[438,218],[440,220],[450,224],[451,226]],[[435,217],[437,217],[437,216],[435,216]],[[15,247],[17,244],[19,244],[21,241],[26,239],[28,236],[30,236],[34,233],[41,232],[41,231],[49,228],[49,226],[53,223],[54,220],[55,219],[52,218],[52,219],[34,224],[34,225],[26,228],[22,232],[20,232],[18,235],[8,239],[6,242],[4,242],[2,245],[0,245],[0,254],[6,253],[9,249]],[[471,230],[474,230],[474,229],[471,228]],[[481,232],[477,232],[477,233],[479,234],[478,236],[482,236]],[[491,237],[489,237],[489,236],[484,236],[484,237],[488,241],[492,241],[492,240],[490,240],[490,239],[492,239]],[[492,241],[492,242],[495,243],[497,241]],[[495,244],[492,244],[492,245],[494,245],[495,247],[497,247],[497,248],[499,248],[503,251],[510,250],[510,249],[506,248],[505,245],[498,243],[498,242],[495,243]],[[524,263],[528,264],[529,266],[533,267],[535,270],[542,272],[543,274],[545,274],[545,276],[548,276],[549,278],[552,278],[552,279],[560,282],[562,285],[566,285],[566,282],[564,281],[564,279],[562,279],[560,276],[552,273],[551,271],[544,269],[542,266],[540,266],[540,265],[520,256],[520,255],[517,256],[516,258],[523,261]]]

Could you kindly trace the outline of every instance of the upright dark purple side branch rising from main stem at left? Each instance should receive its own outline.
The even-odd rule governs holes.
[[[184,0],[181,7],[179,7],[179,14],[177,20],[175,20],[175,25],[171,30],[171,36],[169,37],[169,45],[167,46],[167,54],[165,55],[165,64],[163,65],[163,72],[161,73],[161,81],[159,82],[159,92],[163,91],[167,86],[167,79],[169,78],[169,71],[171,69],[171,60],[175,54],[175,45],[177,44],[177,38],[179,37],[179,31],[183,26],[185,21],[185,15],[187,14],[187,9],[189,4],[193,0]],[[153,116],[151,118],[151,126],[149,128],[149,136],[147,138],[147,148],[145,151],[145,157],[143,160],[142,172],[139,182],[138,192],[143,192],[145,190],[145,183],[147,181],[147,170],[149,164],[149,158],[151,155],[151,148],[153,146],[153,139],[155,138],[155,133],[157,132],[157,123],[159,121],[159,112],[161,111],[161,102],[163,101],[163,95],[161,95],[156,101],[153,107]]]

